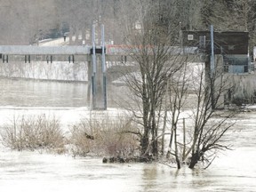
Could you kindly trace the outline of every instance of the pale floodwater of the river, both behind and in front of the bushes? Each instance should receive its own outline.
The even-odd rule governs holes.
[[[88,106],[86,84],[2,79],[0,87],[1,129],[15,113],[51,111],[76,121]],[[233,150],[222,152],[206,170],[184,166],[177,171],[164,164],[102,164],[100,158],[1,147],[0,191],[256,191],[255,117],[256,112],[237,116],[236,126],[228,132]]]

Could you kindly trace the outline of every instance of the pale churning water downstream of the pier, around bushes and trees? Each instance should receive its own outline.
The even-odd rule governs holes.
[[[115,109],[113,108],[112,111]],[[6,110],[0,110],[1,124]],[[61,117],[66,124],[76,122],[88,115],[85,108],[68,110],[9,110],[4,121],[12,120],[13,113],[49,113]],[[100,111],[103,113],[103,111]],[[112,113],[111,113],[112,114]],[[7,114],[6,114],[7,115]],[[10,117],[10,118],[9,118]],[[68,118],[68,119],[67,119]],[[0,148],[1,191],[54,191],[76,190],[130,192],[164,191],[245,191],[256,188],[255,158],[255,112],[236,116],[236,125],[228,132],[225,140],[230,141],[232,150],[219,154],[207,170],[190,170],[184,166],[177,171],[164,164],[102,164],[99,157],[74,158],[68,154],[45,154],[42,151],[13,151]]]

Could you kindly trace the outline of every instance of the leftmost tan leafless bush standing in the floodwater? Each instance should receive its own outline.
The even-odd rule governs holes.
[[[35,150],[39,148],[57,150],[64,149],[64,137],[60,129],[60,121],[53,117],[22,116],[13,118],[1,132],[4,146],[12,149]]]

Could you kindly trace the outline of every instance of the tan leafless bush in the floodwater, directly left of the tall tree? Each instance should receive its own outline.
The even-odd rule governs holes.
[[[133,156],[138,149],[138,138],[132,133],[131,119],[83,119],[71,130],[70,143],[74,156],[88,153],[98,156]]]

